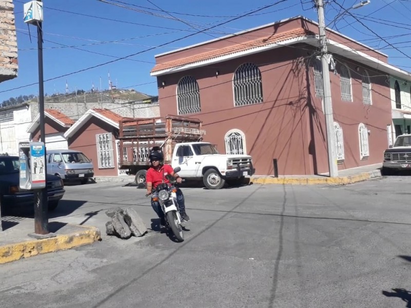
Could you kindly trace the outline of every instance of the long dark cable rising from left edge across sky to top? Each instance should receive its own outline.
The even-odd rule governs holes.
[[[283,3],[283,2],[286,2],[286,1],[287,1],[287,0],[279,0],[279,1],[275,2],[274,4],[270,4],[270,5],[266,5],[266,6],[264,6],[264,7],[260,7],[260,8],[258,8],[258,9],[255,9],[254,11],[251,11],[251,12],[246,13],[246,14],[244,14],[244,15],[240,15],[240,16],[237,16],[237,17],[235,17],[235,18],[231,18],[230,20],[228,20],[228,21],[226,21],[226,22],[222,22],[222,23],[219,23],[219,24],[217,24],[217,25],[213,25],[213,26],[211,26],[211,27],[209,27],[209,28],[207,28],[207,29],[203,29],[203,30],[197,31],[197,32],[195,32],[195,33],[191,33],[191,34],[185,35],[185,36],[183,36],[183,37],[176,38],[175,40],[172,40],[172,41],[170,41],[170,42],[166,42],[166,43],[160,44],[160,45],[158,45],[158,46],[156,46],[156,47],[151,47],[151,48],[148,48],[148,49],[145,49],[145,50],[142,50],[142,51],[133,53],[133,54],[129,54],[129,55],[126,55],[126,56],[123,56],[123,57],[119,57],[118,59],[115,59],[115,60],[111,60],[111,61],[108,61],[108,62],[105,62],[105,63],[93,65],[93,66],[89,66],[89,67],[87,67],[87,68],[83,68],[83,69],[80,69],[80,70],[77,70],[77,71],[74,71],[74,72],[70,72],[70,73],[63,74],[63,75],[60,75],[60,76],[57,76],[57,77],[53,77],[53,78],[50,78],[50,79],[45,80],[45,82],[48,82],[48,81],[51,81],[51,80],[56,80],[56,79],[63,78],[63,77],[66,77],[66,76],[69,76],[69,75],[73,75],[73,74],[77,74],[77,73],[80,73],[80,72],[84,72],[84,71],[87,71],[87,70],[90,70],[90,69],[93,69],[93,68],[97,68],[97,67],[104,66],[104,65],[107,65],[107,64],[110,64],[110,63],[114,63],[114,62],[117,62],[117,61],[120,61],[120,60],[124,60],[124,59],[127,59],[127,58],[129,58],[129,57],[132,57],[132,56],[135,56],[135,55],[138,55],[138,54],[141,54],[141,53],[144,53],[144,52],[147,52],[147,51],[156,49],[156,48],[160,48],[160,47],[163,47],[163,46],[166,46],[166,45],[170,45],[170,44],[172,44],[172,43],[175,43],[175,42],[184,40],[185,38],[194,36],[194,35],[196,35],[196,34],[199,34],[199,33],[202,33],[202,32],[204,32],[204,31],[207,31],[207,30],[216,28],[216,27],[221,26],[221,25],[228,24],[228,23],[233,22],[233,21],[235,21],[235,20],[238,20],[238,19],[240,19],[240,18],[242,18],[242,17],[244,17],[244,16],[246,16],[246,15],[249,15],[249,14],[252,14],[252,13],[255,13],[255,12],[262,11],[262,10],[264,10],[264,9],[267,9],[267,8],[269,8],[269,7],[273,7],[273,6],[275,6],[275,5],[278,5],[278,4]],[[38,84],[38,82],[32,83],[32,84],[28,84],[28,85],[24,85],[24,86],[20,86],[20,87],[15,87],[15,88],[12,88],[12,89],[3,90],[3,91],[0,91],[0,93],[12,91],[12,90],[17,90],[17,89],[22,89],[22,88],[29,87],[29,86],[33,86],[33,85],[36,85],[36,84]]]

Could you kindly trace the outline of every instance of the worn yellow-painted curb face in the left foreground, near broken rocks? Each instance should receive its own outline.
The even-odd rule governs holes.
[[[81,225],[74,226],[84,228],[84,230],[42,240],[33,239],[26,242],[0,246],[0,264],[62,251],[101,240],[100,230],[98,228],[84,227]]]

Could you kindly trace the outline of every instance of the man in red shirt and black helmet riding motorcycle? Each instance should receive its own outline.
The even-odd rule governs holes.
[[[163,164],[164,158],[161,151],[153,148],[148,158],[150,159],[151,167],[148,168],[147,174],[145,175],[147,195],[151,195],[152,190],[156,189],[158,184],[161,184],[163,182],[170,183],[166,175],[171,175],[172,177],[176,178],[177,183],[181,183],[182,179],[178,174],[174,173],[173,167],[168,164]],[[177,189],[176,195],[181,219],[182,221],[189,221],[190,217],[185,213],[184,195],[180,188]],[[160,226],[164,226],[164,213],[161,209],[160,203],[153,200],[154,197],[156,196],[152,197],[151,206],[160,218]]]

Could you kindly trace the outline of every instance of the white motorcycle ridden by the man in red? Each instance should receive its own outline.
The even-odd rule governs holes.
[[[180,171],[180,167],[174,169],[174,173]],[[174,236],[179,242],[184,241],[182,218],[180,212],[178,211],[177,203],[177,186],[176,180],[170,176],[166,175],[170,183],[161,183],[157,185],[156,189],[153,191],[153,201],[158,201],[160,203],[161,209],[164,213],[166,227],[170,227]],[[184,180],[183,180],[184,181]],[[143,184],[144,185],[144,184]],[[148,197],[150,195],[146,195]]]

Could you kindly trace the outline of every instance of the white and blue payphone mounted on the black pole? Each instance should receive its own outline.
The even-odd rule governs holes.
[[[46,187],[46,147],[43,142],[20,142],[20,188],[42,189]]]

